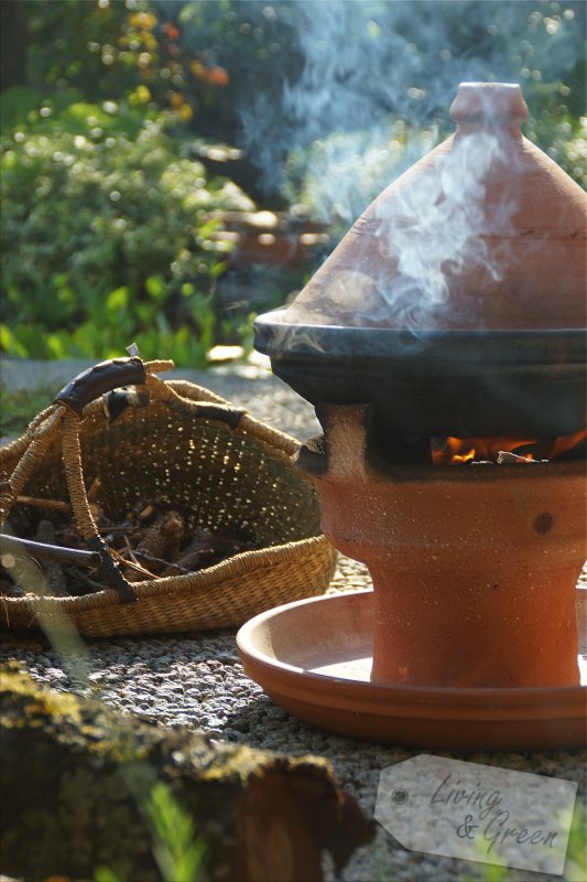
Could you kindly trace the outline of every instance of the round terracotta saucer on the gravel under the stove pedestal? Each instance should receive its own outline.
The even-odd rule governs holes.
[[[257,615],[237,643],[246,674],[289,713],[348,738],[437,750],[586,744],[587,591],[577,589],[581,686],[381,686],[371,670],[372,591],[297,601]]]

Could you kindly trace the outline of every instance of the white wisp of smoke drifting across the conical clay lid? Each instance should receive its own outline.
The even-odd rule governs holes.
[[[491,206],[489,219],[486,180],[506,161],[499,133],[471,132],[438,155],[434,174],[416,178],[396,200],[381,204],[381,250],[395,258],[395,271],[392,282],[384,277],[378,281],[384,314],[394,325],[417,333],[442,322],[452,310],[449,279],[471,267],[493,280],[502,277],[502,263],[486,236],[489,224],[501,236],[508,233],[515,204],[506,196]],[[460,314],[459,322],[470,318]]]

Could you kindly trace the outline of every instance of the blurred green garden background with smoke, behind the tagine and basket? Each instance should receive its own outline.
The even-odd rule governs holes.
[[[584,33],[584,3],[551,0],[2,4],[2,352],[250,345],[253,306],[313,266],[226,309],[226,212],[306,214],[335,244],[452,130],[463,79],[521,83],[526,136],[585,186]]]

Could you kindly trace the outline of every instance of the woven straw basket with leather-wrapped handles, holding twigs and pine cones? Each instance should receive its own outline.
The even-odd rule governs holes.
[[[2,483],[2,520],[24,490],[68,502],[110,585],[84,596],[0,595],[4,627],[46,628],[63,624],[64,614],[86,636],[236,627],[328,587],[336,551],[320,534],[313,485],[292,466],[297,441],[207,389],[156,376],[170,367],[137,357],[102,363],[0,450],[0,470],[10,476]],[[137,405],[145,392],[146,406],[123,406],[112,419],[121,399]],[[96,478],[113,521],[156,497],[188,513],[192,528],[246,529],[254,548],[197,572],[130,584],[94,523],[86,487]]]

